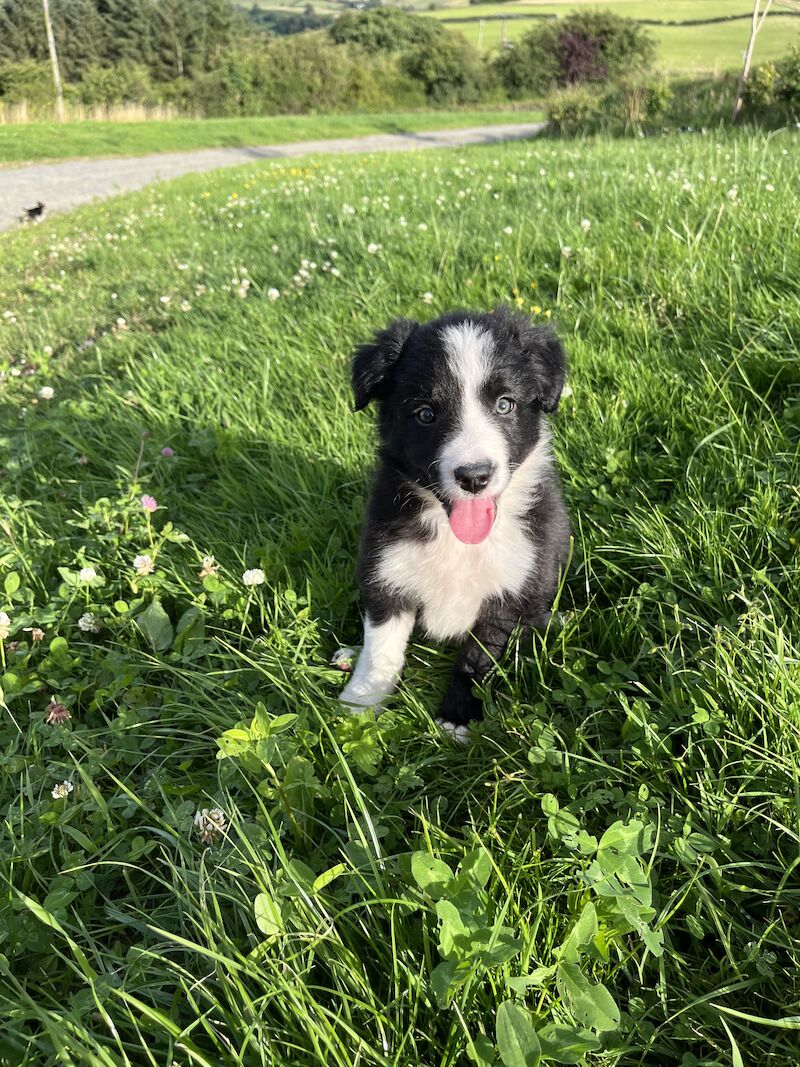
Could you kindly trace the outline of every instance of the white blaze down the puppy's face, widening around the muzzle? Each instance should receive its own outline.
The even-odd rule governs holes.
[[[450,373],[459,384],[461,405],[455,432],[439,457],[442,478],[445,483],[451,482],[450,489],[458,493],[452,475],[455,467],[492,463],[496,476],[487,487],[485,495],[490,496],[495,482],[505,484],[509,464],[506,439],[480,398],[492,366],[495,341],[475,322],[445,327],[441,336]]]

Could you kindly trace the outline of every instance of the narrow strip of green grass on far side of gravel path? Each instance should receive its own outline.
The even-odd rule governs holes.
[[[231,145],[286,144],[366,133],[459,129],[539,122],[540,111],[409,111],[389,114],[274,115],[268,118],[174,118],[144,123],[0,125],[0,163],[78,156],[138,156]]]

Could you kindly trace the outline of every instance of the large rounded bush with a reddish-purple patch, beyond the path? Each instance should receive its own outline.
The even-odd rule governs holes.
[[[495,60],[512,97],[558,86],[608,82],[645,71],[655,47],[642,27],[610,12],[577,12],[543,22]]]

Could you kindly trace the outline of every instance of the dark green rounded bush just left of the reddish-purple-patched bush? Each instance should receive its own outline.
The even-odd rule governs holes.
[[[407,52],[401,66],[432,103],[473,103],[492,87],[492,73],[483,57],[455,33]]]

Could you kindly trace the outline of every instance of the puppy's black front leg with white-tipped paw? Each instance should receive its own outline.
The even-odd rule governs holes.
[[[473,692],[473,683],[485,678],[502,654],[518,622],[518,611],[501,605],[484,609],[459,653],[436,720],[458,740],[466,739],[469,722],[483,718],[483,704]]]

